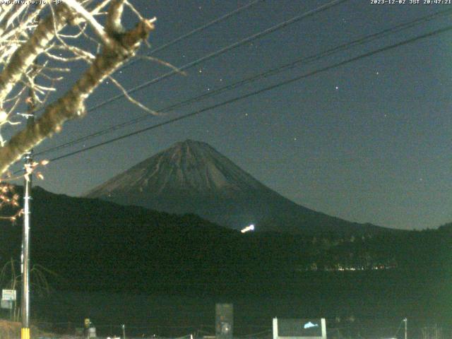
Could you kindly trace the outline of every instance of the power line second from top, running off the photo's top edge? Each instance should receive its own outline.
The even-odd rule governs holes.
[[[314,16],[317,13],[321,13],[323,11],[326,11],[329,8],[332,8],[333,6],[338,6],[339,4],[342,4],[345,1],[349,1],[349,0],[333,0],[331,2],[328,2],[328,4],[324,4],[321,5],[317,8],[312,9],[311,11],[307,11],[299,16],[295,16],[291,19],[285,20],[282,23],[278,23],[277,25],[273,25],[270,28],[267,28],[266,30],[262,30],[261,32],[257,32],[254,35],[250,35],[249,37],[245,37],[242,40],[239,40],[237,42],[234,42],[233,44],[230,44],[226,47],[222,47],[221,49],[218,49],[215,52],[212,52],[210,54],[207,54],[204,57],[201,57],[199,59],[196,59],[194,61],[189,62],[188,64],[185,64],[184,66],[179,67],[177,70],[174,71],[169,71],[165,74],[163,74],[162,76],[159,76],[157,78],[153,78],[150,81],[146,81],[145,83],[142,83],[141,85],[138,85],[136,87],[130,88],[129,90],[126,91],[127,94],[131,94],[136,92],[137,90],[141,90],[141,88],[145,88],[148,87],[148,85],[151,85],[153,83],[157,83],[159,81],[162,81],[166,78],[169,78],[170,76],[174,76],[174,74],[180,73],[181,71],[185,71],[186,69],[190,69],[193,66],[196,66],[198,64],[201,64],[204,61],[208,61],[210,59],[213,59],[215,57],[218,57],[220,54],[224,54],[225,52],[229,52],[232,49],[235,49],[239,46],[242,46],[242,44],[246,44],[247,42],[251,42],[254,41],[260,37],[263,37],[264,35],[268,35],[272,32],[275,32],[276,30],[280,30],[281,28],[285,28],[286,26],[292,24],[292,23],[296,23],[299,20],[302,20],[304,18],[309,18],[310,16]],[[93,107],[88,108],[88,112],[91,112],[95,109],[98,109],[102,106],[105,106],[107,104],[109,104],[110,102],[114,102],[118,99],[121,99],[122,97],[125,97],[126,94],[125,93],[121,93],[118,95],[115,95],[114,97],[110,97],[108,100],[105,100],[103,102],[100,102],[97,105],[94,105]]]

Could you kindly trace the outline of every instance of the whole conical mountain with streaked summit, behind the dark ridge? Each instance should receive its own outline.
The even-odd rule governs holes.
[[[239,230],[379,232],[310,210],[258,182],[207,143],[187,140],[144,160],[85,195],[169,213],[195,213]]]

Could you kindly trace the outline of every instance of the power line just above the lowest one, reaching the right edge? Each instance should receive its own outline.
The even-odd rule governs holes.
[[[320,52],[318,54],[314,54],[314,55],[311,55],[309,57],[303,57],[303,58],[296,59],[295,61],[292,61],[292,62],[290,62],[288,64],[284,64],[282,66],[275,67],[275,68],[270,69],[268,71],[264,71],[262,73],[258,73],[258,74],[254,75],[254,76],[249,77],[249,78],[242,79],[241,81],[236,81],[235,83],[232,83],[230,85],[225,85],[225,86],[223,86],[221,88],[218,88],[217,90],[209,91],[209,92],[203,93],[201,95],[198,95],[196,97],[191,97],[190,99],[183,100],[182,102],[177,102],[176,104],[169,105],[167,107],[159,109],[159,110],[157,110],[157,112],[159,112],[159,113],[169,112],[169,111],[172,111],[172,110],[174,110],[176,108],[184,107],[184,106],[189,105],[189,104],[194,103],[194,102],[199,102],[200,100],[204,100],[207,97],[211,97],[211,96],[223,93],[226,90],[232,90],[232,89],[238,88],[239,86],[246,85],[247,83],[251,83],[252,81],[256,81],[256,80],[261,79],[261,78],[266,78],[268,76],[273,76],[273,75],[275,75],[277,73],[280,73],[282,71],[286,71],[287,69],[291,69],[291,68],[295,67],[297,64],[299,64],[301,62],[305,62],[305,65],[306,65],[306,64],[311,63],[312,61],[316,61],[316,60],[321,59],[323,57],[328,57],[328,56],[330,56],[332,54],[335,54],[336,52],[342,52],[342,51],[350,49],[352,47],[356,47],[356,46],[361,45],[361,44],[366,44],[366,43],[371,42],[373,40],[380,39],[381,37],[385,37],[385,36],[387,36],[389,34],[393,34],[395,32],[400,32],[400,30],[405,30],[407,28],[412,28],[415,25],[419,25],[420,23],[425,23],[425,22],[427,22],[429,20],[434,20],[435,18],[438,18],[439,16],[446,16],[446,15],[449,15],[451,13],[452,13],[452,9],[449,9],[449,10],[446,10],[446,11],[440,11],[440,12],[437,12],[437,13],[434,13],[434,14],[423,16],[421,18],[417,18],[415,20],[411,20],[411,21],[409,21],[407,23],[402,23],[400,25],[396,25],[396,26],[393,26],[391,28],[387,28],[386,30],[381,30],[380,32],[376,32],[376,33],[373,33],[371,35],[366,35],[364,37],[360,37],[357,40],[353,40],[352,42],[347,42],[345,44],[341,44],[338,47],[333,47],[333,48],[328,49],[328,50],[326,50],[324,52]],[[59,149],[62,149],[62,148],[68,148],[68,147],[70,147],[72,145],[76,145],[76,144],[81,143],[83,141],[87,141],[90,138],[95,138],[97,136],[102,136],[102,135],[104,135],[106,133],[109,133],[111,131],[117,131],[118,129],[124,128],[126,126],[131,126],[131,125],[136,124],[136,123],[138,123],[140,121],[148,119],[149,117],[153,117],[153,116],[150,116],[149,114],[145,114],[145,115],[143,115],[141,117],[138,117],[136,119],[131,119],[131,120],[125,121],[125,122],[123,122],[121,124],[110,126],[107,129],[103,129],[101,131],[97,131],[95,133],[91,133],[88,136],[83,136],[83,137],[77,138],[77,139],[75,139],[73,141],[69,141],[67,143],[63,143],[61,145],[54,146],[52,148],[47,148],[45,150],[42,150],[40,153],[36,153],[36,155],[42,155],[42,154],[49,153],[49,152],[52,152],[52,151],[55,151],[55,150],[59,150]]]

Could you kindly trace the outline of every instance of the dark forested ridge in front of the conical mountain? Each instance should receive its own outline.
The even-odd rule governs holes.
[[[16,190],[22,193],[20,187]],[[136,293],[137,298],[153,295],[152,305],[143,299],[143,323],[149,321],[150,311],[155,323],[160,310],[159,320],[165,324],[169,319],[172,326],[178,325],[177,319],[180,326],[186,326],[186,314],[195,314],[196,319],[213,318],[200,312],[198,305],[161,304],[156,295],[179,300],[184,300],[181,296],[196,296],[210,303],[210,309],[213,300],[228,300],[237,305],[238,319],[247,321],[239,314],[254,309],[251,318],[263,319],[264,326],[275,314],[287,314],[287,309],[294,310],[293,316],[314,310],[331,319],[344,312],[384,321],[402,319],[405,314],[417,323],[451,319],[452,246],[447,227],[353,240],[271,232],[242,234],[196,215],[169,215],[99,199],[73,198],[39,187],[33,189],[32,196],[32,265],[39,263],[64,278],[48,275],[54,288],[83,294],[107,291],[106,298],[114,304],[114,309],[107,309],[99,298],[83,298],[81,294],[76,302],[69,302],[66,291],[53,302],[44,296],[40,309],[32,314],[46,321],[68,321],[71,314],[80,321],[88,314],[97,323],[97,316],[112,323],[117,310],[117,323],[127,321],[127,314],[130,323],[137,321],[135,305],[118,302],[112,291]],[[5,210],[2,213],[8,215]],[[16,224],[0,220],[1,264],[11,257],[20,258],[21,225],[22,220]],[[322,270],[338,264],[371,268],[393,260],[398,268]],[[318,271],[304,270],[313,263]],[[33,275],[31,281],[37,281]],[[32,287],[32,307],[38,305],[35,292]],[[253,306],[244,309],[249,304]],[[98,315],[80,311],[86,309],[97,309]],[[169,309],[182,316],[169,317]],[[54,314],[53,320],[44,317],[47,314]],[[204,318],[196,321],[206,323]]]

